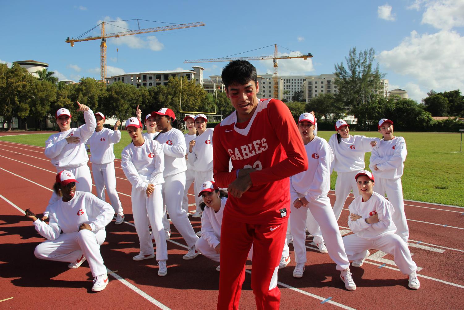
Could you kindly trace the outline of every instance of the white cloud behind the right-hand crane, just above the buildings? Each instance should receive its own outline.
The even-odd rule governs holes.
[[[296,51],[296,53],[279,53],[279,56],[299,56],[302,54],[300,51]],[[306,60],[303,58],[277,59],[277,62],[278,75],[305,75],[314,71],[311,58]],[[268,73],[274,72],[272,60],[261,60],[259,64],[264,65]]]

